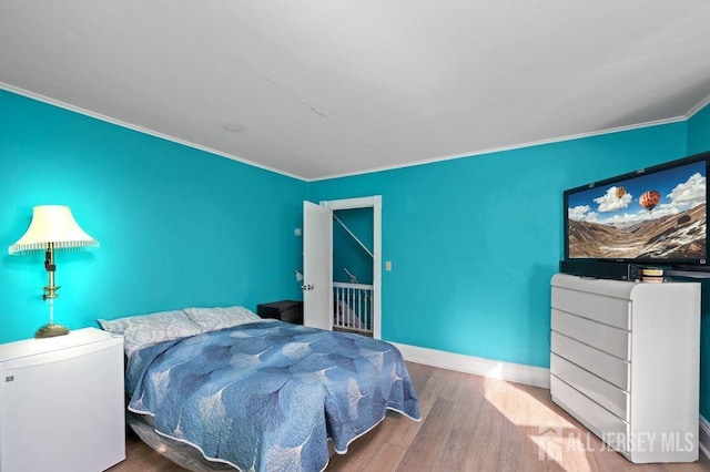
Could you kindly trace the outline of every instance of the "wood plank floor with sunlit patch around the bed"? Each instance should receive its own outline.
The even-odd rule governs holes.
[[[710,461],[632,464],[554,404],[549,390],[407,362],[422,421],[396,413],[327,471],[710,471]],[[134,435],[111,472],[178,472]]]

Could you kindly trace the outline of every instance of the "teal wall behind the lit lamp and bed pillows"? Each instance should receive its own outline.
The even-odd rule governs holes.
[[[9,256],[32,206],[63,204],[101,246],[57,254],[70,328],[187,306],[301,297],[303,181],[0,91],[0,342],[47,322],[43,255]]]

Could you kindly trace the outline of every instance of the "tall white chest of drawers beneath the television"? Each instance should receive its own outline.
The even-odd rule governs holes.
[[[631,462],[696,461],[700,284],[551,285],[552,401]]]

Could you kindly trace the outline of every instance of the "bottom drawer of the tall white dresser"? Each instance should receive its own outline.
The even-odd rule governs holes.
[[[621,440],[620,443],[609,443],[612,449],[628,450],[625,440],[629,438],[629,423],[555,376],[550,376],[550,393],[555,403],[567,410],[602,440]]]

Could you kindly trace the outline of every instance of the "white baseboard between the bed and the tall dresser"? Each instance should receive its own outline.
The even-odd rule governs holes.
[[[546,389],[550,388],[550,370],[542,367],[503,362],[417,346],[400,345],[398,342],[390,343],[399,349],[405,360],[412,362]]]

